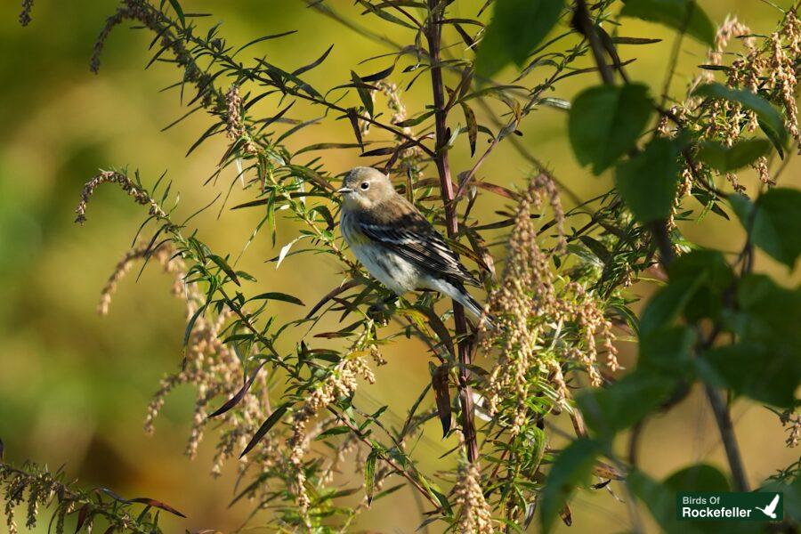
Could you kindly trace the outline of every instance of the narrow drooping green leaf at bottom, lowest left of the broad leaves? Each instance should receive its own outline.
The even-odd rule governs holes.
[[[565,501],[576,486],[586,483],[601,454],[601,445],[588,438],[578,438],[556,457],[540,494],[540,521],[545,532],[551,530]]]

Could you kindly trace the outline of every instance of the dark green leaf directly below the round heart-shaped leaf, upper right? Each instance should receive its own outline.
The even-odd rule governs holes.
[[[665,219],[676,202],[681,142],[661,137],[645,150],[618,164],[615,179],[620,196],[641,223]]]

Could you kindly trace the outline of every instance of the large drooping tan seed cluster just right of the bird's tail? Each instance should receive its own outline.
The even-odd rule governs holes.
[[[500,349],[498,364],[492,369],[487,385],[488,408],[495,415],[502,401],[516,400],[511,423],[514,435],[521,432],[530,418],[525,400],[529,398],[530,384],[538,381],[538,376],[546,376],[562,401],[568,396],[560,361],[582,362],[590,382],[601,384],[596,368],[599,343],[596,337],[607,352],[609,368],[618,368],[611,321],[605,318],[597,298],[575,282],[561,283],[549,266],[551,256],[538,244],[531,208],[541,209],[546,196],[555,213],[562,211],[549,183],[552,182],[544,175],[531,180],[517,206],[506,270],[500,287],[490,294],[490,313],[497,318],[496,326],[484,332],[482,341],[485,351],[492,346]],[[562,247],[563,242],[556,249]],[[558,336],[562,325],[568,322],[574,325],[576,336],[565,337],[564,343],[554,343],[546,350],[541,345],[546,336]]]

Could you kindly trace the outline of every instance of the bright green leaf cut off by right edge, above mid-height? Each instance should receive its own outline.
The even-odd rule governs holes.
[[[756,247],[793,269],[801,255],[801,191],[777,187],[753,204],[742,195],[730,201]]]

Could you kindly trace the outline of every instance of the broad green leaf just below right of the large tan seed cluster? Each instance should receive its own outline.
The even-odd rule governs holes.
[[[583,392],[576,402],[587,426],[611,439],[656,409],[674,387],[669,377],[637,370],[609,387]]]

